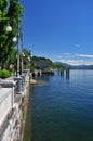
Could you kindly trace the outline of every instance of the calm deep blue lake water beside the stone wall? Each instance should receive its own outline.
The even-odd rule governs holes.
[[[39,80],[32,87],[30,140],[93,141],[93,70]]]

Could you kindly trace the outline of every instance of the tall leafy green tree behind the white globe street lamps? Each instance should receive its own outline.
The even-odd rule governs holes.
[[[6,0],[0,0],[0,65],[2,69],[17,43],[13,42],[13,37],[17,36],[22,11],[23,8],[18,0],[11,0],[9,7]],[[11,33],[5,30],[8,24],[12,27]]]

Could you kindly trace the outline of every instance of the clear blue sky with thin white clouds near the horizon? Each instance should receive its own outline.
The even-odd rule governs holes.
[[[24,48],[71,65],[93,65],[93,0],[21,0]]]

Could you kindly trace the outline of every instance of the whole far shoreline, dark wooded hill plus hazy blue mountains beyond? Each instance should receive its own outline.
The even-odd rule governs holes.
[[[69,68],[69,69],[93,69],[93,65],[78,65],[72,66],[62,62],[52,62],[46,57],[32,56],[30,69],[50,69],[50,68]]]

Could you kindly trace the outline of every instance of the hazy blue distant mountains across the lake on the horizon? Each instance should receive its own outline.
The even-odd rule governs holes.
[[[62,63],[62,62],[54,62],[57,65],[62,65],[64,67],[67,67],[69,69],[93,69],[93,65],[78,65],[78,66],[74,66],[74,65],[69,65],[66,63]]]

